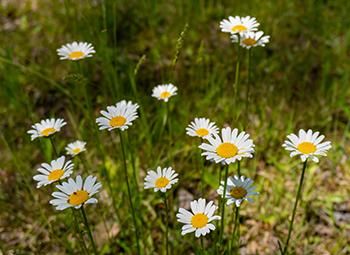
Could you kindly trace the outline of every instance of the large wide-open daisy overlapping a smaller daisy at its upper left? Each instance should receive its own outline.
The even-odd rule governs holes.
[[[199,148],[204,150],[202,156],[207,160],[214,160],[216,163],[231,164],[242,158],[253,157],[254,144],[249,139],[249,134],[238,129],[231,130],[230,127],[221,130],[221,137],[218,135],[207,138],[208,143],[202,143]]]

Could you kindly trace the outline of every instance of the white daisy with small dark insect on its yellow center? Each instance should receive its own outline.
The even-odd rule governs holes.
[[[56,185],[60,191],[52,193],[54,199],[50,204],[56,207],[56,210],[64,210],[69,207],[79,209],[84,204],[96,204],[97,199],[92,196],[99,192],[101,183],[96,182],[96,177],[89,175],[85,181],[80,175],[76,179],[69,178],[68,182]]]

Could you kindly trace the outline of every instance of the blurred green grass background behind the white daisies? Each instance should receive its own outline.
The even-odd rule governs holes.
[[[175,212],[201,195],[200,141],[185,135],[187,124],[200,116],[220,127],[244,129],[256,144],[255,157],[242,161],[242,174],[254,179],[261,193],[241,207],[243,254],[277,253],[277,240],[286,238],[302,164],[281,147],[285,136],[299,128],[325,134],[333,148],[319,164],[309,164],[289,251],[348,254],[349,8],[347,0],[2,1],[0,248],[5,254],[79,254],[70,211],[55,211],[48,204],[53,188],[37,190],[32,180],[38,164],[51,159],[52,148],[45,140],[31,142],[26,131],[40,119],[56,117],[68,122],[55,136],[61,153],[77,138],[88,143],[88,151],[75,159],[75,174],[94,173],[103,183],[99,203],[86,207],[99,250],[135,254],[118,135],[98,132],[94,123],[101,109],[129,99],[142,108],[127,131],[127,144],[130,175],[133,168],[139,174],[139,191],[133,183],[133,192],[146,254],[162,254],[164,247],[162,197],[142,187],[145,171],[158,165],[180,174],[169,194],[170,250],[188,254],[199,247],[193,235],[181,237]],[[236,47],[219,29],[228,15],[255,16],[271,35],[266,48],[252,51],[248,110],[247,54],[233,100]],[[59,61],[56,49],[74,40],[91,42],[97,53],[79,63]],[[150,95],[153,86],[167,82],[179,92],[170,100],[170,123],[159,137],[164,104]],[[216,199],[219,171],[206,162],[208,199]],[[231,215],[232,208],[226,211]],[[231,233],[232,224],[226,231]],[[213,246],[215,235],[205,245]]]

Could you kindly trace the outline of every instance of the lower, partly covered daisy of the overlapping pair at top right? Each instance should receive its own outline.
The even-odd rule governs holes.
[[[231,36],[231,39],[232,39],[232,42],[234,43],[239,41],[238,40],[239,38],[236,34],[233,34]],[[265,45],[269,43],[269,41],[270,41],[270,36],[269,35],[264,36],[264,32],[262,31],[247,32],[241,35],[240,45],[246,49],[250,49],[252,47],[257,47],[257,46],[265,47]]]

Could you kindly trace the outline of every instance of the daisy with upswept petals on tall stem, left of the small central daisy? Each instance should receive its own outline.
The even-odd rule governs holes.
[[[100,130],[108,129],[108,131],[111,131],[119,128],[124,131],[132,125],[133,120],[137,119],[138,108],[138,104],[122,100],[115,106],[107,106],[107,111],[101,111],[103,117],[97,118],[96,123]]]

